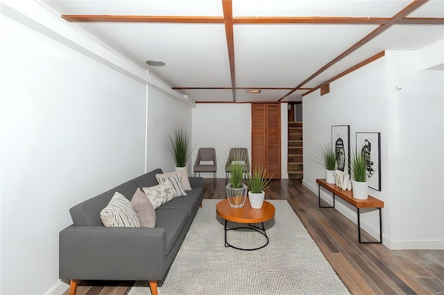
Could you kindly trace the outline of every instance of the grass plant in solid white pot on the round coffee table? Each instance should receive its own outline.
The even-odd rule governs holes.
[[[251,170],[251,175],[246,179],[246,185],[250,189],[248,192],[248,199],[250,200],[251,208],[260,209],[264,204],[265,192],[270,179],[266,178],[266,169],[263,166],[255,166]]]

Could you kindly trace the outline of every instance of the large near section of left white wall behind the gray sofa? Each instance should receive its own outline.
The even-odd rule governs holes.
[[[144,172],[145,85],[0,22],[0,293],[43,294],[69,208]]]

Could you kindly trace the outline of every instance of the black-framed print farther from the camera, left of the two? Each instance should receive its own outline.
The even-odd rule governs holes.
[[[332,147],[336,152],[337,169],[350,173],[350,125],[332,126]]]

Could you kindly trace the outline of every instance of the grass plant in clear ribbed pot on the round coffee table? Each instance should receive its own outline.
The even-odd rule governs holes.
[[[228,202],[232,208],[242,208],[245,204],[248,187],[244,184],[244,164],[240,153],[234,154],[234,160],[230,163],[230,179],[225,186]]]

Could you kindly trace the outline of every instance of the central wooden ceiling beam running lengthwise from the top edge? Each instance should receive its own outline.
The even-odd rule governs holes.
[[[231,0],[222,0],[223,22],[225,24],[225,36],[227,38],[228,62],[230,63],[231,87],[233,101],[236,101],[236,71],[234,67],[234,29],[233,10]]]

